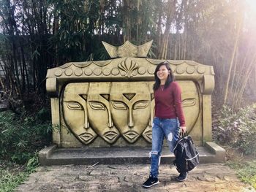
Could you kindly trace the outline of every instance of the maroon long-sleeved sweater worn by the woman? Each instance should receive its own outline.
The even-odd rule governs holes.
[[[154,91],[155,117],[178,118],[180,126],[185,126],[184,113],[181,108],[181,88],[177,82],[171,82],[167,88],[164,85]]]

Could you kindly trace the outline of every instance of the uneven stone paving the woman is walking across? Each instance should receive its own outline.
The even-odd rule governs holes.
[[[178,173],[173,166],[161,165],[159,185],[146,189],[142,184],[148,172],[146,164],[39,166],[16,191],[255,191],[223,164],[200,164],[185,182],[175,180]]]

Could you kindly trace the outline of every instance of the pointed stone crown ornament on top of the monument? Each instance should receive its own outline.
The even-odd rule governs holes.
[[[108,51],[110,58],[123,58],[123,57],[134,57],[134,58],[146,58],[148,51],[152,45],[153,40],[146,42],[143,45],[133,45],[131,42],[127,41],[124,45],[115,47],[106,42],[102,42],[105,49]]]

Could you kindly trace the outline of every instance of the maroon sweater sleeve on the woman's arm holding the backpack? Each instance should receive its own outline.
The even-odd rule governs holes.
[[[180,126],[186,126],[184,112],[182,110],[181,88],[177,82],[173,82],[174,107]]]

